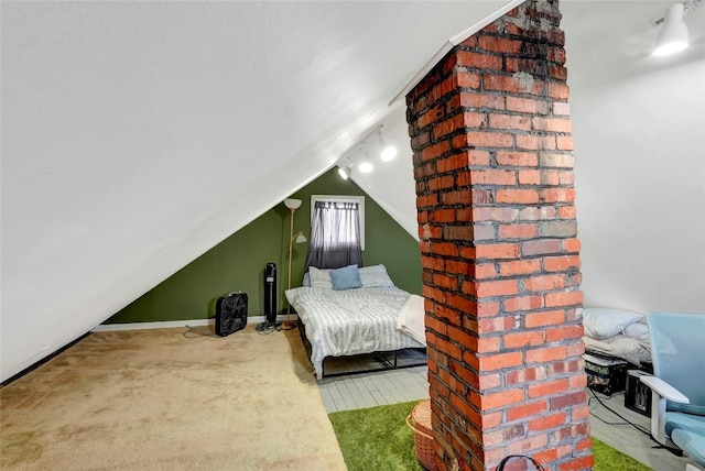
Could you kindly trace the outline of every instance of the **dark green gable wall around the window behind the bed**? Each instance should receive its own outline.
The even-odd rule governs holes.
[[[397,286],[421,294],[419,242],[351,180],[335,168],[291,195],[303,202],[294,213],[294,232],[311,234],[311,195],[365,196],[365,265],[383,263]],[[104,324],[207,319],[215,316],[218,297],[231,292],[248,295],[248,315],[264,311],[264,267],[276,263],[278,308],[286,310],[286,263],[290,211],[276,205],[245,228],[184,266]],[[301,286],[306,243],[294,244],[292,287]]]

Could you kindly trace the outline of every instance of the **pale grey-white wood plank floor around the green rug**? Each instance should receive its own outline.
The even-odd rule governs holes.
[[[329,377],[318,382],[318,390],[328,413],[421,401],[429,397],[427,369],[416,366]],[[615,393],[611,397],[597,394],[601,403],[592,390],[588,390],[588,396],[593,436],[655,471],[685,469],[688,460],[665,449],[654,448],[657,443],[648,435],[627,424],[625,419],[649,430],[650,419],[625,407],[623,392]]]

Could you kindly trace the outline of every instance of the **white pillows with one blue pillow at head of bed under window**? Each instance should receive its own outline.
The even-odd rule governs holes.
[[[308,267],[308,284],[314,288],[330,288],[336,291],[359,287],[394,286],[384,265],[364,266],[348,265],[341,269],[327,270]],[[304,286],[306,286],[304,275]]]

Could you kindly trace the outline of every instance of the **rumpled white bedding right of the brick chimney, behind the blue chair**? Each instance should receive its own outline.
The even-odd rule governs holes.
[[[651,363],[647,316],[623,309],[583,309],[585,350],[622,359],[638,368]]]

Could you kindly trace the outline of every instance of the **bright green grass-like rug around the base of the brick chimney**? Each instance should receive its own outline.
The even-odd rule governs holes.
[[[328,415],[348,471],[422,471],[406,426],[417,401]],[[648,471],[649,467],[593,438],[595,471]]]

